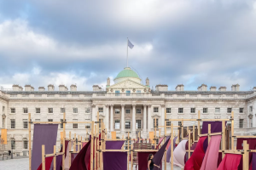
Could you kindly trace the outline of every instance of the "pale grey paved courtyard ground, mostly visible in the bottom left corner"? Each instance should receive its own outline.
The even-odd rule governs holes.
[[[135,170],[135,166],[133,167]],[[170,164],[167,164],[167,170],[170,170]],[[174,170],[180,170],[179,167],[174,167]],[[12,159],[0,161],[0,170],[28,170],[28,158]]]

